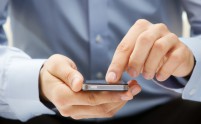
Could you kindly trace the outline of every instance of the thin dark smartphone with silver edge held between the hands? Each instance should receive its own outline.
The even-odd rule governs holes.
[[[86,80],[82,86],[83,91],[127,91],[128,84],[123,81],[109,84],[105,80]]]

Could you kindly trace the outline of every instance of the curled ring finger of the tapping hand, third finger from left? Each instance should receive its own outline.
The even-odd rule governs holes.
[[[149,56],[144,64],[143,76],[146,79],[152,79],[160,67],[160,62],[177,43],[177,36],[169,33],[165,37],[158,39],[151,48]]]

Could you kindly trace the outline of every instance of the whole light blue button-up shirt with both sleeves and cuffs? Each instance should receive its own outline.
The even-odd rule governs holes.
[[[54,114],[40,102],[38,92],[39,70],[50,55],[71,58],[85,79],[104,79],[116,46],[136,20],[164,23],[181,37],[182,10],[196,36],[180,38],[197,61],[190,80],[170,78],[160,86],[139,76],[142,92],[113,118],[135,115],[181,96],[201,101],[201,1],[0,0],[0,116],[26,121]],[[15,48],[6,46],[2,25],[7,15]],[[122,79],[131,78],[125,73]]]

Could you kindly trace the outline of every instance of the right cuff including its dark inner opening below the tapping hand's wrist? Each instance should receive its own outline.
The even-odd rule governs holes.
[[[153,81],[165,89],[181,93],[183,99],[201,102],[201,37],[180,38],[180,40],[190,48],[196,60],[190,79],[187,83],[182,83],[178,79],[175,81],[164,82],[158,82],[156,80]],[[181,87],[177,87],[178,85],[175,85],[178,83],[181,84]],[[170,87],[164,84],[173,85]]]

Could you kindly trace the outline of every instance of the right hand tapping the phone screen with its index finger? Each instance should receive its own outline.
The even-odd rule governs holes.
[[[164,81],[171,75],[187,76],[193,67],[191,50],[165,24],[140,19],[118,45],[106,80],[116,82],[126,70],[132,77],[142,73],[145,79],[156,75],[157,80]]]

